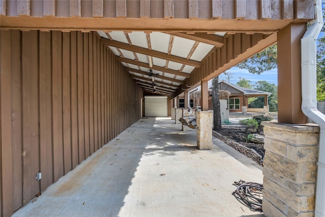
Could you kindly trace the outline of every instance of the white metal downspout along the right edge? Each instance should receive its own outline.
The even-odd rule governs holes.
[[[325,115],[317,110],[316,99],[316,39],[323,26],[321,0],[315,1],[316,19],[311,21],[301,39],[302,106],[304,114],[319,125],[319,150],[315,217],[325,217]]]

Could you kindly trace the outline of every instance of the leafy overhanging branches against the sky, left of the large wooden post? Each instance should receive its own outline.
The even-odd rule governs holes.
[[[274,44],[246,59],[238,64],[237,67],[247,69],[250,73],[259,75],[265,71],[277,68],[277,63],[277,45]]]

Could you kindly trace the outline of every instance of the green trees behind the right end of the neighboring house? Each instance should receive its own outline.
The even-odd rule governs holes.
[[[270,111],[278,110],[278,88],[275,84],[271,84],[267,81],[257,81],[254,84],[254,89],[262,90],[265,92],[271,92],[268,98],[268,103],[270,106]],[[264,97],[257,97],[253,102],[248,105],[250,108],[263,108]]]

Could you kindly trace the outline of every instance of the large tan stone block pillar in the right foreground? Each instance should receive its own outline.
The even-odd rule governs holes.
[[[263,122],[265,216],[314,216],[319,127]]]

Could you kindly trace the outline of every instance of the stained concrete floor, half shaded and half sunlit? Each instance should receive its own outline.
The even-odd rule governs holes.
[[[198,150],[196,131],[142,118],[13,216],[264,216],[232,195],[261,168],[213,139]]]

